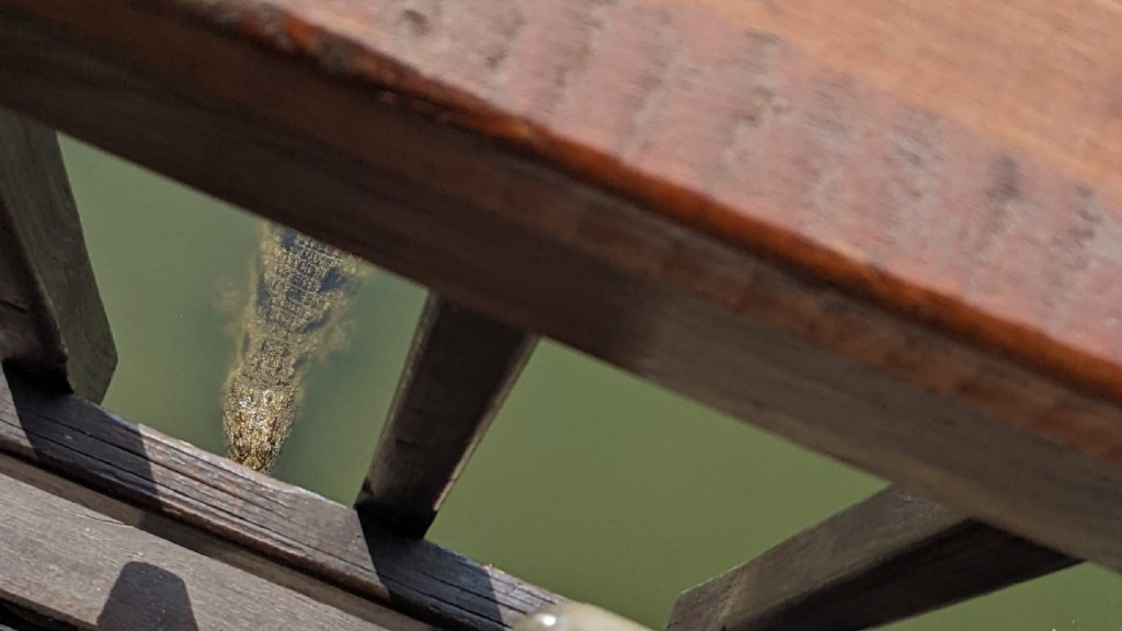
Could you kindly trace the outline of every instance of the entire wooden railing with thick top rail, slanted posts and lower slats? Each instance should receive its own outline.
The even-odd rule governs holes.
[[[0,0],[19,620],[499,630],[561,600],[419,539],[537,335],[902,485],[687,592],[674,631],[1122,569],[1122,143],[1072,98],[1112,89],[1122,13],[434,6]],[[40,125],[433,290],[357,510],[95,405],[116,359]]]

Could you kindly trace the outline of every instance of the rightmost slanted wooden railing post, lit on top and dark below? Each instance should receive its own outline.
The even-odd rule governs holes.
[[[1077,564],[889,488],[683,593],[669,631],[857,631]]]

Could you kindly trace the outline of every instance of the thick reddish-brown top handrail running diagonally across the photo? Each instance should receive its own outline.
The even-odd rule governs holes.
[[[1122,13],[434,6],[0,0],[0,102],[1122,569]]]

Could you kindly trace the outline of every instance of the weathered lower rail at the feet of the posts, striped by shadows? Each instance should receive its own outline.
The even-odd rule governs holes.
[[[452,629],[502,631],[525,612],[562,601],[433,543],[389,534],[351,509],[126,423],[77,397],[9,381],[10,391],[0,391],[0,451],[149,515],[135,522],[166,518],[232,543],[227,549],[206,543],[208,556],[270,580],[277,580],[280,564]],[[261,566],[261,558],[272,565]]]

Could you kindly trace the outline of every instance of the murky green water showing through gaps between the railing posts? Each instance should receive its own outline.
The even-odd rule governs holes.
[[[218,454],[233,357],[215,286],[241,285],[259,221],[64,143],[120,364],[105,405]],[[274,469],[349,503],[423,292],[375,274],[351,344],[307,379]],[[881,484],[557,345],[539,345],[432,538],[652,628],[677,594]],[[1079,567],[891,629],[1122,627],[1122,579]]]

